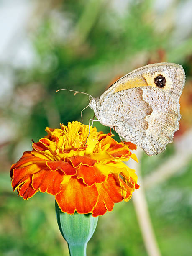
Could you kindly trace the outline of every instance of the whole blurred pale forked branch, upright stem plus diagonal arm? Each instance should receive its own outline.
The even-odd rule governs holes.
[[[147,201],[144,188],[149,188],[157,183],[164,182],[166,179],[183,169],[192,159],[192,128],[177,138],[175,141],[176,154],[156,169],[152,174],[149,174],[142,180],[140,174],[140,166],[138,163],[129,161],[129,167],[136,170],[139,178],[140,188],[133,194],[133,205],[136,210],[138,223],[141,228],[143,241],[149,256],[160,256],[160,251],[156,243],[156,238],[152,228]],[[141,157],[141,149],[138,148],[138,159]],[[130,166],[131,164],[131,166]]]

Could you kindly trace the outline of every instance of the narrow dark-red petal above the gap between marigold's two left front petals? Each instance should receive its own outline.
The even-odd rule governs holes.
[[[47,162],[47,166],[51,169],[51,171],[61,170],[66,175],[75,175],[77,172],[70,163],[64,161]]]

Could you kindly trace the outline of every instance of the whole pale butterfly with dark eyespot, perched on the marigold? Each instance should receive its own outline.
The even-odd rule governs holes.
[[[100,97],[89,95],[88,106],[97,118],[90,121],[113,128],[120,138],[140,146],[149,156],[159,154],[179,129],[184,82],[184,69],[179,64],[163,62],[135,69]]]

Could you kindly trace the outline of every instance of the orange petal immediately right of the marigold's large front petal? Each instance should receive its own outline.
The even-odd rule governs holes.
[[[99,199],[97,205],[93,209],[93,217],[103,215],[108,210],[111,212],[114,207],[114,203],[121,202],[123,200],[121,194],[121,188],[116,183],[113,174],[109,174],[106,182],[97,184],[99,191]]]

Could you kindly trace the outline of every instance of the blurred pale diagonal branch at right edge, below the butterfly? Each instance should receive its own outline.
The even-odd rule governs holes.
[[[192,129],[175,141],[176,154],[143,179],[145,188],[153,187],[182,170],[192,159]]]

